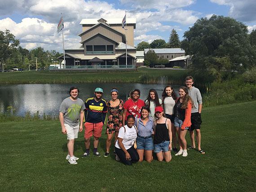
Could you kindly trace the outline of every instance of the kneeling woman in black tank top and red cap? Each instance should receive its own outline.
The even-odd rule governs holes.
[[[155,109],[155,127],[154,127],[154,152],[158,161],[171,161],[172,148],[172,124],[171,120],[163,117],[163,108]]]

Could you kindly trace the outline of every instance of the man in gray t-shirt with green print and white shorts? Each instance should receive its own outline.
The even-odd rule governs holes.
[[[77,96],[79,90],[77,87],[71,87],[70,96],[62,101],[59,109],[59,118],[62,126],[62,133],[67,135],[68,154],[66,160],[70,164],[77,164],[78,157],[74,156],[74,143],[78,137],[78,132],[83,131],[84,119],[84,101]]]

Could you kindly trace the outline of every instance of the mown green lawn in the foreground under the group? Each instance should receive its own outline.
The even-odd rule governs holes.
[[[99,152],[70,165],[57,121],[0,123],[0,191],[255,191],[256,101],[203,109],[201,155],[125,166]],[[188,134],[187,134],[188,136]],[[187,137],[188,144],[190,140]],[[75,155],[84,152],[83,133]]]

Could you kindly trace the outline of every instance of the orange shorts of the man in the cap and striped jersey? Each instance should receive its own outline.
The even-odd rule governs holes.
[[[101,137],[102,136],[102,127],[103,122],[85,122],[84,123],[84,138],[89,138],[91,136]]]

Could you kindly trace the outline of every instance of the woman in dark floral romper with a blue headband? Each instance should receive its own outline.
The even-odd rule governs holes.
[[[118,99],[118,91],[116,88],[111,90],[111,100],[107,102],[109,116],[106,125],[106,153],[104,157],[108,157],[111,140],[113,138],[113,134],[115,133],[115,142],[117,140],[119,128],[122,127],[122,110],[124,102],[121,99]]]

